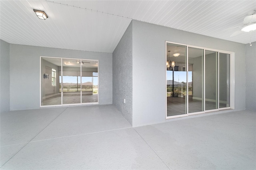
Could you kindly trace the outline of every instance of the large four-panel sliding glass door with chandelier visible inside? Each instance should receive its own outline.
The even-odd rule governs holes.
[[[166,42],[166,118],[232,108],[231,54]]]

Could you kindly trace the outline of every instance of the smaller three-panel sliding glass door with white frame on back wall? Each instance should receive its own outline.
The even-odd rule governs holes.
[[[98,103],[98,60],[41,57],[40,106]]]

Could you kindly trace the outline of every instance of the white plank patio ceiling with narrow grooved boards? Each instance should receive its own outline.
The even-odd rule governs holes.
[[[33,9],[49,18],[39,20]],[[112,53],[131,20],[256,41],[256,31],[238,28],[256,0],[1,0],[0,10],[0,39],[13,44]]]

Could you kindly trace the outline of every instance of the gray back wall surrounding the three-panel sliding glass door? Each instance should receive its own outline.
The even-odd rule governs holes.
[[[112,104],[112,54],[10,44],[10,110],[40,107],[40,56],[99,59],[99,103]]]

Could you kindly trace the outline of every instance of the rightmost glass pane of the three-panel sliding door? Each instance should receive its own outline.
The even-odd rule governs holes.
[[[82,60],[82,103],[98,102],[98,61]]]

